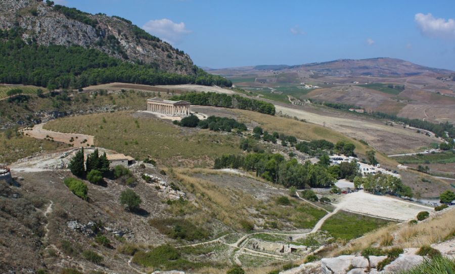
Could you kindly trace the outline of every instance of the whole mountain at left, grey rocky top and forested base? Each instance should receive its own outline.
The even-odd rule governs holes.
[[[0,82],[49,89],[109,82],[231,86],[127,19],[32,0],[0,3]]]

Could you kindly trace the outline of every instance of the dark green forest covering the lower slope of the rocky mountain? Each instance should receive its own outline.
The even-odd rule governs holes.
[[[21,39],[21,29],[0,31],[0,81],[50,90],[124,82],[146,85],[200,84],[232,86],[221,76],[194,66],[191,75],[168,73],[158,64],[133,64],[81,46],[37,45]]]

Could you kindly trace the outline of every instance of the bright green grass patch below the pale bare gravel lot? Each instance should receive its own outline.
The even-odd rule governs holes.
[[[343,240],[358,238],[363,234],[385,226],[391,221],[340,211],[326,220],[321,230]]]

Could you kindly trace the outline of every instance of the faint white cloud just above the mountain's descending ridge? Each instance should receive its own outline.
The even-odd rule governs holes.
[[[171,44],[181,42],[185,35],[191,32],[186,28],[184,22],[174,23],[166,18],[150,20],[142,28]]]

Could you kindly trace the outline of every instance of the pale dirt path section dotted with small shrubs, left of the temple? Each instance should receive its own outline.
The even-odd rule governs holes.
[[[66,144],[74,144],[75,146],[90,146],[94,144],[94,136],[86,135],[86,134],[79,134],[79,133],[62,133],[57,131],[50,131],[43,129],[42,127],[45,123],[35,125],[32,129],[23,129],[21,130],[24,134],[28,134],[30,137],[36,139],[46,139],[52,137],[54,141],[66,143]],[[51,138],[51,139],[52,139]],[[70,142],[70,139],[73,138],[73,142]],[[86,140],[84,142],[84,140]]]

